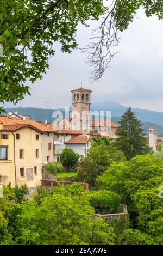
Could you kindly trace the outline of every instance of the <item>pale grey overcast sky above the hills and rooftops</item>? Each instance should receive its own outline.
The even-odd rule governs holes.
[[[92,102],[115,101],[124,106],[153,109],[163,112],[163,21],[156,17],[146,18],[141,9],[127,31],[121,34],[120,46],[111,63],[97,83],[89,81],[90,67],[85,64],[85,55],[79,50],[71,54],[62,53],[56,45],[56,54],[50,68],[31,86],[31,96],[21,101],[22,107],[48,108],[71,105],[70,90],[80,87],[91,89]],[[79,47],[89,42],[91,28],[78,27]],[[8,105],[5,105],[8,106]],[[12,105],[10,105],[12,106]],[[17,107],[19,104],[17,105]]]

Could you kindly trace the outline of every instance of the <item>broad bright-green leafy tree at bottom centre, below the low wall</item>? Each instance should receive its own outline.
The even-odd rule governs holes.
[[[75,190],[77,189],[77,193]],[[57,187],[41,199],[28,200],[17,216],[18,245],[113,245],[112,227],[94,210],[83,190]]]

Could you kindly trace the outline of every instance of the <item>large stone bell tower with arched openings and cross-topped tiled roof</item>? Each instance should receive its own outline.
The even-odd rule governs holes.
[[[91,90],[81,87],[72,93],[72,129],[90,133]]]

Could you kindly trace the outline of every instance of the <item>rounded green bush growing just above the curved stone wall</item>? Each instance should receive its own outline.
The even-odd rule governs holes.
[[[112,214],[120,205],[120,196],[118,194],[106,191],[89,191],[87,192],[90,199],[90,205],[95,208],[96,213]]]

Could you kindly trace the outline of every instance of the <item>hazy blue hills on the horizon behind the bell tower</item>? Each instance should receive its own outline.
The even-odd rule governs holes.
[[[122,114],[126,111],[127,107],[117,103],[117,102],[102,102],[102,103],[91,103],[91,111],[111,111],[111,120],[117,123]],[[8,108],[5,109],[8,113]],[[163,113],[156,112],[140,108],[132,108],[135,112],[136,117],[142,121],[143,129],[148,132],[148,127],[151,125],[156,126],[156,130],[159,135],[163,135]],[[10,108],[10,112],[15,113],[17,111],[19,114],[28,115],[35,119],[44,122],[46,110],[43,108]],[[61,111],[64,116],[64,108],[58,109],[47,109],[47,120],[50,122],[54,121],[53,112]],[[71,107],[70,107],[71,111]],[[3,113],[2,113],[3,114]]]

